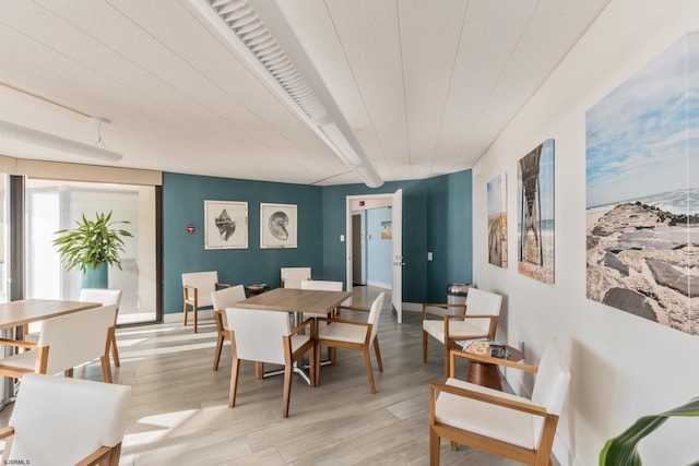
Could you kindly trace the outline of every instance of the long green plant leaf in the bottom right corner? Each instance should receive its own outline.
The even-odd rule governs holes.
[[[607,440],[600,453],[600,466],[640,466],[637,444],[673,416],[699,416],[699,397],[654,416],[643,416],[619,435]],[[692,465],[699,465],[699,459]]]

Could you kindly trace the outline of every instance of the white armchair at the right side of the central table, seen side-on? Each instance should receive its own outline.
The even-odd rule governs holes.
[[[369,389],[371,393],[376,393],[374,384],[374,371],[371,370],[371,358],[369,357],[369,346],[374,345],[379,372],[383,372],[383,362],[381,362],[381,351],[379,349],[379,319],[381,316],[381,308],[383,307],[383,297],[381,292],[371,303],[371,310],[366,322],[351,321],[343,319],[319,318],[318,324],[327,322],[323,328],[317,327],[316,335],[316,385],[320,383],[320,350],[323,346],[329,348],[346,348],[362,351],[364,356],[364,365],[367,369],[369,378]]]

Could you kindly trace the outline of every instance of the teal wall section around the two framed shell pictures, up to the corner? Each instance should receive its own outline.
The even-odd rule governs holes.
[[[204,201],[248,203],[248,249],[204,249]],[[234,285],[280,286],[280,268],[322,272],[321,188],[193,175],[163,174],[164,312],[182,309],[182,273],[218,271]],[[297,248],[260,249],[260,203],[296,204]],[[193,224],[194,234],[187,232]]]

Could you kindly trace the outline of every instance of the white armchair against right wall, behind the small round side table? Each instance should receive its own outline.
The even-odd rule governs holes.
[[[429,319],[427,308],[448,304],[423,304],[423,362],[427,362],[428,336],[445,345],[445,377],[449,375],[449,350],[455,342],[475,338],[495,339],[502,296],[470,288],[466,295],[465,312],[445,314],[442,319]],[[463,304],[458,304],[463,308]]]

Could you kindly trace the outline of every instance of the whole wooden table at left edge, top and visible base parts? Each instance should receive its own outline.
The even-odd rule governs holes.
[[[100,302],[67,301],[62,299],[20,299],[3,302],[0,303],[0,333],[3,338],[21,339],[25,325],[100,306]],[[13,348],[8,346],[4,350],[8,351],[5,356],[9,356]],[[13,379],[5,378],[3,390],[0,409],[14,399]]]

